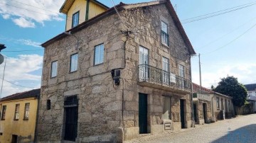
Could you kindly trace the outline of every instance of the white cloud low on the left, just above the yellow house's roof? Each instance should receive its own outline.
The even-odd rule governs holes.
[[[8,57],[4,76],[6,81],[4,81],[1,97],[9,96],[17,92],[28,91],[33,88],[40,88],[40,84],[38,83],[41,83],[41,75],[33,74],[33,72],[41,69],[42,64],[43,56],[40,55],[18,55],[16,58]],[[0,78],[2,79],[4,63],[0,65],[0,71]],[[26,87],[15,86],[7,81]]]

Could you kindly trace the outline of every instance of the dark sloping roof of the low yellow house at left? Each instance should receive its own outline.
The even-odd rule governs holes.
[[[40,92],[41,92],[41,88],[33,89],[31,91],[25,91],[21,93],[15,93],[15,94],[12,94],[11,96],[6,96],[4,98],[1,98],[0,102],[12,101],[12,100],[23,99],[23,98],[31,98],[31,97],[39,98]]]

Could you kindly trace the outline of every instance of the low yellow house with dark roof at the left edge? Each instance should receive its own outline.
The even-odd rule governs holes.
[[[40,88],[1,98],[0,142],[34,142]]]

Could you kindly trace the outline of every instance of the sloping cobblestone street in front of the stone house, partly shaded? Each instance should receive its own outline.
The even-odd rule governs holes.
[[[196,125],[179,132],[164,132],[132,139],[131,142],[256,142],[256,114]]]

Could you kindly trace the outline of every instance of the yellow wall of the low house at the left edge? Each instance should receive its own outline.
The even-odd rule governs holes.
[[[23,120],[25,103],[30,103],[28,120]],[[0,135],[0,143],[11,142],[12,135],[18,135],[18,142],[33,142],[38,100],[36,98],[25,98],[14,101],[3,101],[0,104],[1,112],[3,105],[6,105],[5,120],[0,120],[0,132],[3,133],[3,135]],[[20,104],[18,120],[14,120],[16,104]]]

